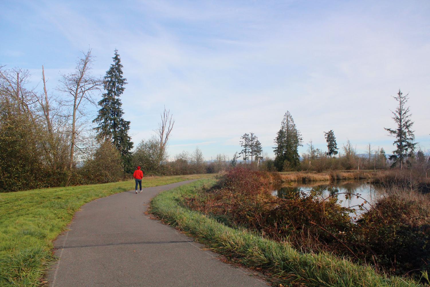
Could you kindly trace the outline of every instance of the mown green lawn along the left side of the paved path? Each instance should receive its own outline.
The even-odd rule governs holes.
[[[210,175],[157,176],[142,187]],[[38,286],[52,256],[52,241],[89,201],[134,189],[134,180],[0,194],[0,286]]]

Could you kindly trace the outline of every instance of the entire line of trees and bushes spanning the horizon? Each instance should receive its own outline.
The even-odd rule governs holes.
[[[173,159],[166,152],[175,120],[164,108],[155,135],[143,140],[132,151],[128,134],[130,122],[123,118],[120,97],[127,84],[123,65],[115,50],[113,63],[104,77],[92,74],[91,49],[83,52],[76,68],[62,74],[57,86],[47,86],[44,67],[40,87],[30,86],[30,73],[20,68],[0,66],[0,191],[113,182],[130,177],[137,166],[145,175],[218,173],[246,164],[255,170],[351,170],[415,168],[427,178],[430,168],[424,152],[415,152],[413,122],[407,95],[399,91],[398,108],[393,112],[396,150],[387,160],[384,149],[372,149],[368,156],[357,154],[348,141],[339,149],[333,130],[325,132],[327,150],[310,141],[307,153],[298,154],[303,145],[301,132],[289,111],[276,134],[275,158],[267,157],[254,133],[240,140],[242,150],[230,159],[218,154],[206,161],[199,148],[183,151]],[[50,89],[49,89],[50,88]],[[50,90],[50,92],[48,92]],[[95,99],[101,95],[101,100]],[[98,108],[95,114],[94,107]]]

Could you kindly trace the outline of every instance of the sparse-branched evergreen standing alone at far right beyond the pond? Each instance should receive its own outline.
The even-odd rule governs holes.
[[[408,157],[414,156],[414,148],[416,143],[414,143],[414,131],[411,130],[414,122],[411,120],[411,115],[409,112],[409,107],[406,107],[406,102],[408,101],[408,95],[403,96],[402,92],[399,90],[397,96],[393,96],[398,102],[396,111],[392,111],[393,120],[396,122],[396,129],[387,129],[390,136],[394,136],[396,140],[393,145],[396,146],[396,150],[393,151],[393,155],[389,158],[393,160],[391,167],[396,167],[399,164],[399,168],[402,169],[405,160]]]

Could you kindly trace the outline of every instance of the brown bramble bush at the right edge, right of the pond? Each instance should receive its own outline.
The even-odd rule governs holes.
[[[357,222],[350,241],[370,262],[395,274],[430,271],[430,199],[391,188]]]

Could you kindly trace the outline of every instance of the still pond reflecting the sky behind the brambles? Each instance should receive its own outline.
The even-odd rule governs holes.
[[[299,192],[309,192],[310,190],[322,190],[322,198],[334,196],[344,207],[352,207],[357,210],[357,214],[365,212],[370,208],[370,204],[379,196],[377,186],[366,180],[344,180],[337,182],[310,182],[310,183],[283,183],[272,186],[272,195],[279,198],[288,198],[291,194]],[[337,194],[337,195],[336,195]],[[359,198],[356,195],[359,194]],[[359,205],[363,204],[364,210],[359,210]]]

